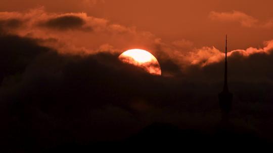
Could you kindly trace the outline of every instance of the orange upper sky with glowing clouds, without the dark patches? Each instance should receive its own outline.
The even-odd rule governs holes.
[[[205,56],[219,56],[218,50],[224,49],[225,34],[228,34],[230,51],[266,46],[264,42],[273,39],[272,5],[272,1],[246,0],[2,0],[0,12],[2,20],[18,17],[11,12],[17,12],[25,21],[33,20],[31,24],[34,23],[34,28],[28,23],[27,28],[21,28],[15,33],[34,38],[57,39],[61,43],[51,46],[61,51],[69,48],[70,52],[74,52],[71,51],[73,49],[122,52],[142,48],[153,54],[160,50],[169,56],[195,52],[179,56],[194,63],[196,60],[203,60]],[[45,23],[45,20],[69,13],[83,17],[87,24],[81,30],[65,32],[37,26]],[[32,14],[31,17],[29,14]],[[89,27],[96,33],[86,31]],[[213,46],[216,50],[213,50]],[[203,50],[208,51],[204,54]],[[202,59],[191,60],[199,56]]]

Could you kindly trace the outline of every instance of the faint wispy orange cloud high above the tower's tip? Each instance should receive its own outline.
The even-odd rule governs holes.
[[[240,11],[232,11],[232,12],[210,12],[209,18],[214,21],[221,22],[237,22],[240,23],[243,27],[257,27],[257,28],[271,28],[272,22],[271,20],[266,21],[265,23],[260,22],[258,19],[249,16]]]

